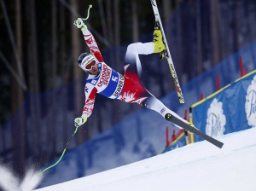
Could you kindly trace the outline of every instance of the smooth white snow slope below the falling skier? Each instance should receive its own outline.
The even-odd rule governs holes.
[[[38,191],[256,190],[256,128],[218,140],[224,142],[222,149],[196,142]]]

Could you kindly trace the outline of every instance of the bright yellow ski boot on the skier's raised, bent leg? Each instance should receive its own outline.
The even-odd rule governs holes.
[[[166,51],[166,44],[163,42],[162,32],[160,26],[155,22],[153,33],[154,53],[160,53],[160,58],[164,58]]]

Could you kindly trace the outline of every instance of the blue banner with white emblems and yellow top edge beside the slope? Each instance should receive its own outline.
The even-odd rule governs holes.
[[[192,107],[195,126],[212,137],[256,126],[256,71]],[[195,141],[201,138],[195,136]]]

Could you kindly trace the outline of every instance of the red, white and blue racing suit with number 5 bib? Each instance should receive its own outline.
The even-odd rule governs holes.
[[[131,43],[127,47],[125,54],[125,74],[122,75],[103,61],[102,54],[90,31],[85,30],[83,34],[85,43],[98,61],[100,71],[97,76],[89,74],[86,79],[83,114],[85,113],[88,118],[90,117],[96,94],[101,94],[110,99],[119,99],[129,103],[137,102],[144,107],[160,113],[164,118],[166,113],[171,113],[178,119],[182,119],[168,109],[161,101],[156,99],[140,83],[139,76],[141,75],[142,67],[138,55],[152,54],[154,52],[154,43]]]

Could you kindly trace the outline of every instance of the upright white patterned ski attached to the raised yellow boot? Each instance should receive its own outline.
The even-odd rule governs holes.
[[[168,62],[168,65],[170,67],[171,73],[172,73],[172,78],[174,80],[174,85],[175,85],[175,89],[177,91],[178,100],[179,100],[180,103],[184,103],[185,101],[184,101],[183,93],[182,93],[180,84],[179,84],[178,79],[177,79],[177,74],[176,74],[176,71],[175,71],[175,68],[174,68],[174,65],[173,65],[173,61],[172,61],[172,56],[170,54],[170,50],[169,50],[169,47],[168,47],[168,44],[167,44],[167,41],[166,41],[166,35],[165,35],[165,32],[164,32],[164,28],[162,26],[162,22],[161,22],[161,19],[160,19],[160,14],[159,14],[159,11],[158,11],[158,8],[157,8],[157,4],[156,4],[155,0],[150,0],[150,2],[151,2],[151,5],[152,5],[152,8],[153,8],[153,11],[154,11],[155,24],[156,24],[156,26],[160,27],[160,31],[162,32],[162,35],[163,35],[163,41],[166,44],[166,51],[165,51],[165,56],[164,57],[166,58],[166,60]]]

